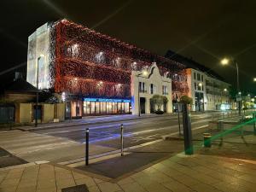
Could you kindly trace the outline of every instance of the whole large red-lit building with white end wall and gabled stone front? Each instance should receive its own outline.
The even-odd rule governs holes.
[[[27,60],[27,81],[36,86],[38,79],[39,89],[61,94],[67,117],[150,113],[154,94],[168,97],[163,110],[171,113],[172,100],[189,92],[183,64],[69,20],[32,33]],[[148,91],[158,85],[142,93],[141,84]]]

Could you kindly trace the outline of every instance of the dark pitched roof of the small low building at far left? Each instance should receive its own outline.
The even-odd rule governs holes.
[[[38,90],[32,84],[26,82],[24,79],[15,79],[15,81],[5,86],[4,91],[15,93],[36,93],[40,90]]]

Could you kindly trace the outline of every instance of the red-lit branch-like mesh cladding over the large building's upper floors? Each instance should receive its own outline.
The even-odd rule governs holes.
[[[182,64],[69,20],[55,23],[51,48],[50,72],[56,92],[131,97],[131,71],[149,67],[152,61],[161,75],[172,78],[173,98],[189,91]]]

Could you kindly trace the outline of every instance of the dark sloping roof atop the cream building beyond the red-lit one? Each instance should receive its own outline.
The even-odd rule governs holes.
[[[179,55],[179,54],[177,54],[176,52],[174,52],[170,49],[167,50],[167,52],[166,52],[166,58],[169,58],[173,61],[180,62],[183,65],[185,65],[187,68],[193,68],[195,70],[207,73],[212,78],[219,79],[221,81],[226,82],[223,77],[221,77],[218,73],[212,71],[211,68],[205,67],[204,65],[194,61],[192,58],[189,59],[188,57],[185,57],[183,55]]]

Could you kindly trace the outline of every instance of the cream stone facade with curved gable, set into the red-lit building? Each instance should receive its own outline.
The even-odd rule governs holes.
[[[146,73],[145,73],[146,72]],[[131,73],[131,108],[132,114],[138,114],[138,86],[139,82],[145,83],[146,92],[140,92],[139,96],[144,97],[145,102],[145,113],[150,113],[150,98],[154,96],[154,94],[150,94],[149,86],[150,84],[155,85],[155,94],[163,95],[162,86],[165,85],[167,87],[168,95],[165,95],[168,99],[166,112],[172,113],[172,80],[165,77],[162,77],[159,72],[159,68],[156,66],[156,63],[153,63],[151,67],[148,69],[144,69],[143,71],[133,71]],[[163,109],[163,107],[162,107]]]

